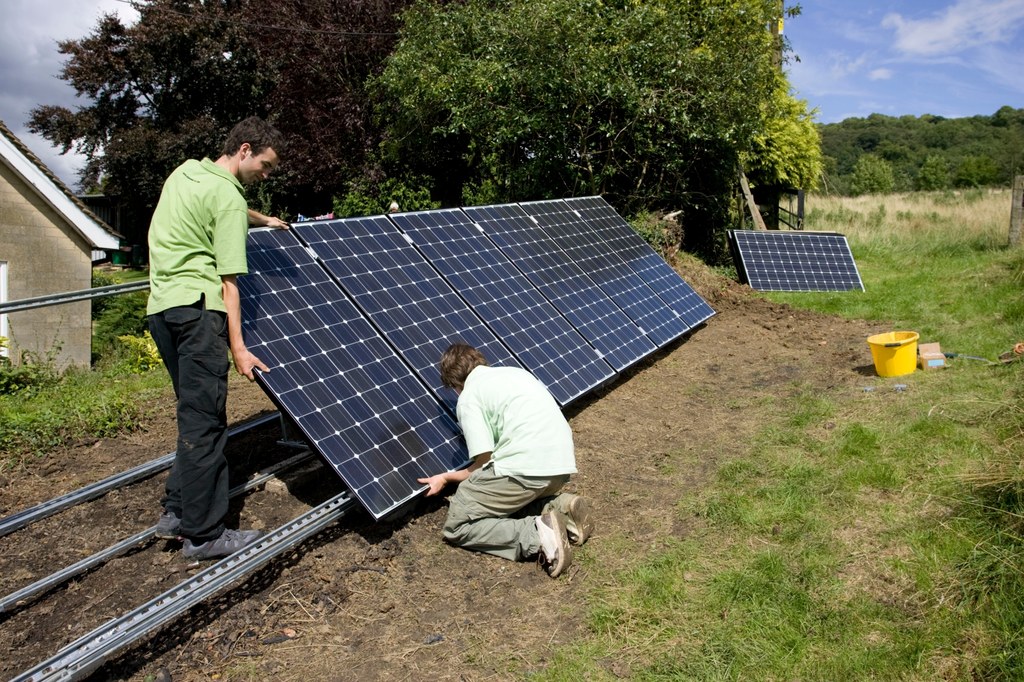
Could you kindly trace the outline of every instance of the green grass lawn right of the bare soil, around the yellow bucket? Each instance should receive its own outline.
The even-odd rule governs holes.
[[[808,207],[808,229],[850,239],[866,292],[766,297],[965,355],[1024,340],[1009,191]],[[897,414],[778,398],[746,456],[683,494],[702,529],[609,578],[540,679],[609,679],[597,662],[622,658],[641,680],[1024,679],[1021,371],[919,373]]]

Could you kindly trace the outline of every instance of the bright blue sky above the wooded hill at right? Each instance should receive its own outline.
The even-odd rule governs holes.
[[[788,6],[791,3],[786,1]],[[835,123],[1024,109],[1024,0],[807,0],[783,33],[795,93]]]

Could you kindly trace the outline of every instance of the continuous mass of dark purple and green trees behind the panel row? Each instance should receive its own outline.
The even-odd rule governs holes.
[[[814,176],[768,31],[777,0],[136,6],[133,26],[104,16],[60,43],[87,103],[39,106],[30,127],[84,153],[83,186],[121,197],[143,236],[173,167],[216,156],[252,114],[289,147],[251,199],[286,215],[382,187],[443,205],[601,194],[626,213],[683,209],[685,246],[708,252],[741,157],[765,181]]]

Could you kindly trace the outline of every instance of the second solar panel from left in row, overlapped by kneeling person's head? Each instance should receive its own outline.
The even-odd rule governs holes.
[[[386,217],[311,222],[293,229],[452,414],[457,396],[441,384],[437,367],[450,344],[468,343],[492,365],[519,367]]]

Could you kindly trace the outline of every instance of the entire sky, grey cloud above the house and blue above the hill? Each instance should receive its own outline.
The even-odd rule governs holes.
[[[2,2],[0,120],[74,185],[81,160],[29,133],[29,112],[87,103],[57,78],[58,40],[84,38],[103,12],[137,14],[126,0]],[[784,35],[800,58],[790,81],[822,123],[1024,109],[1024,0],[806,0]]]

